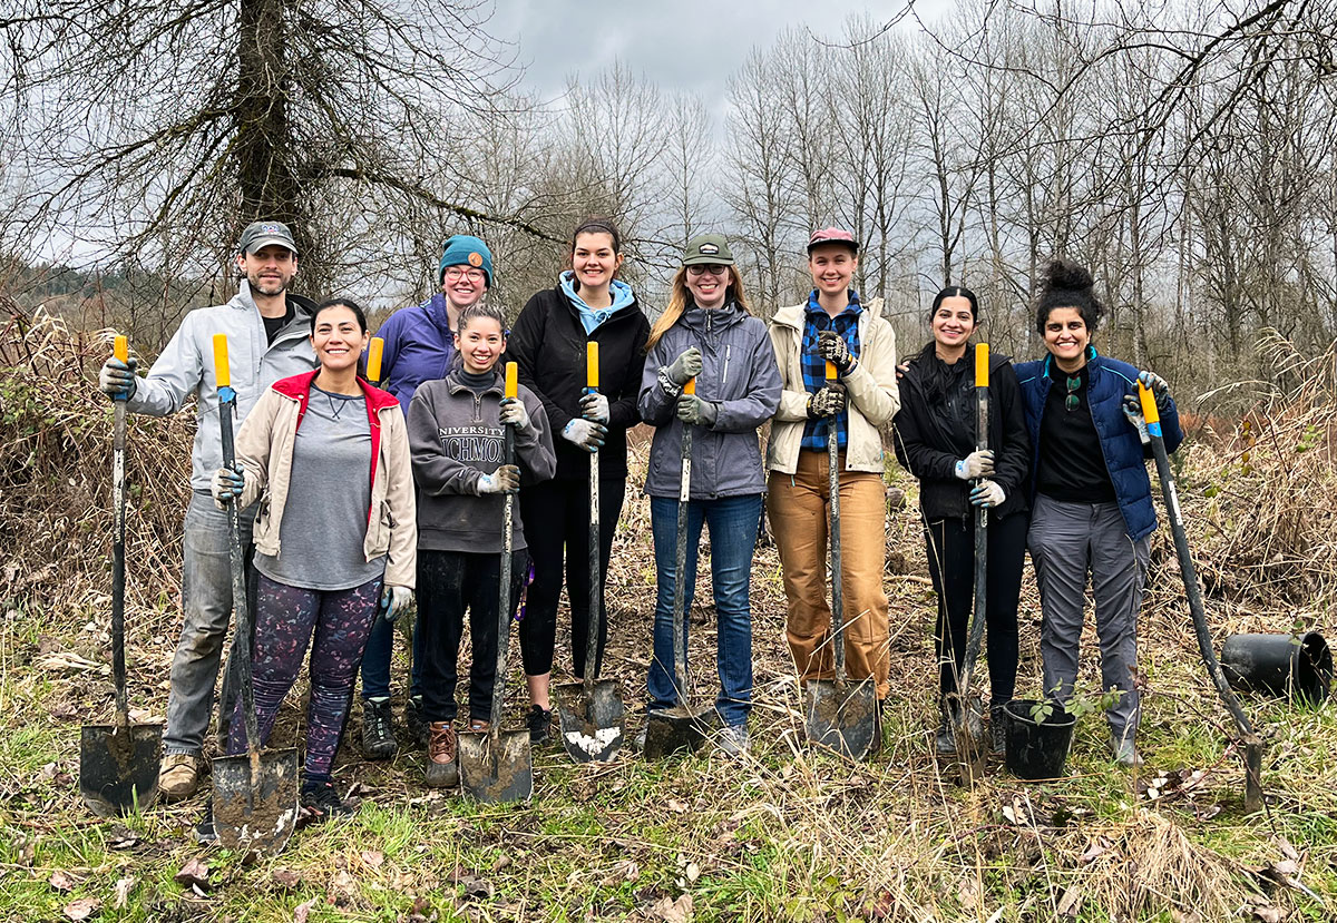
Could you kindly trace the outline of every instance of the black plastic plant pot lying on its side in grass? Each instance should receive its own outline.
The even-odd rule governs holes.
[[[1333,655],[1318,632],[1231,634],[1221,648],[1231,688],[1317,705],[1328,697]]]

